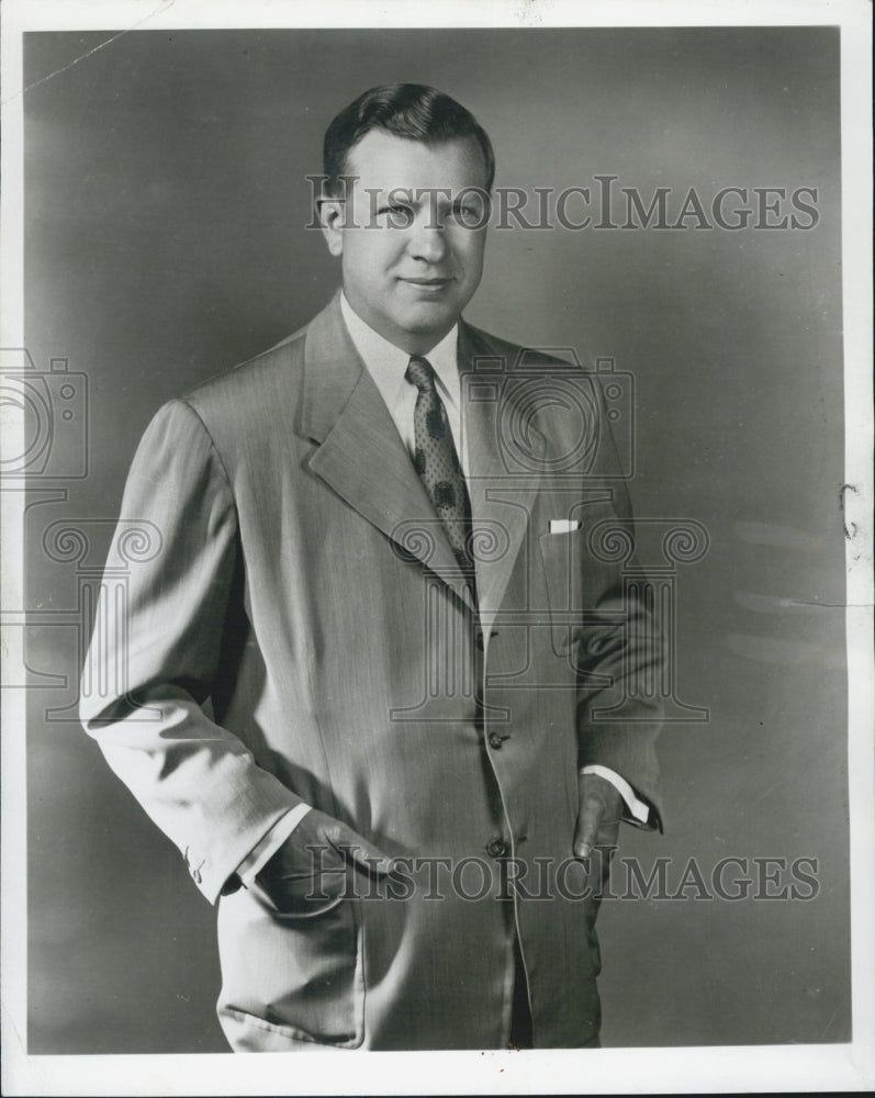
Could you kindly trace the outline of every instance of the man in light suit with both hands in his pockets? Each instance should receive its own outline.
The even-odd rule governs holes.
[[[461,320],[493,172],[434,89],[346,108],[341,292],[128,478],[161,548],[82,720],[218,903],[238,1051],[598,1043],[590,855],[659,825],[659,649],[588,537],[629,518],[597,386]]]

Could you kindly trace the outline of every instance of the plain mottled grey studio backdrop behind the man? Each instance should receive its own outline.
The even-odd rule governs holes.
[[[795,229],[493,232],[467,315],[632,374],[637,514],[709,537],[674,578],[676,695],[708,719],[666,727],[666,833],[620,851],[670,859],[672,893],[695,858],[708,887],[605,901],[605,1043],[848,1040],[838,31],[135,32],[88,54],[111,37],[25,36],[26,345],[76,376],[88,459],[30,486],[30,1051],[225,1047],[214,911],[72,719],[82,592],[156,408],[327,301],[304,176],[334,113],[395,80],[478,115],[500,186],[616,176],[646,204],[669,188],[672,222],[689,188],[708,220],[722,188],[785,188],[772,224],[817,189]],[[710,888],[726,858],[739,899]],[[786,898],[799,858],[816,886]]]

